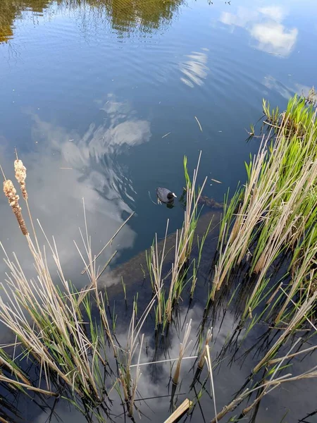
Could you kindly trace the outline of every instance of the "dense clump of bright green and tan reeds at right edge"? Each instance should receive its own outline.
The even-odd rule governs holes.
[[[305,295],[313,293],[316,277],[313,270],[317,246],[316,111],[295,96],[290,99],[287,111],[278,116],[277,133],[269,132],[263,137],[259,153],[246,164],[244,188],[237,190],[230,202],[226,198],[220,227],[209,301],[228,281],[233,269],[247,264],[249,275],[256,275],[256,284],[247,300],[244,318],[265,298],[268,273],[278,257],[289,254],[293,257],[287,272],[290,298],[300,295],[302,303]],[[280,292],[279,301],[273,305],[279,305],[282,297],[285,296]],[[285,308],[286,305],[277,321]]]

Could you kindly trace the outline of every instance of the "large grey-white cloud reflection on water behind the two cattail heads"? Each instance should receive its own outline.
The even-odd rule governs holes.
[[[73,245],[74,239],[80,239],[78,227],[84,226],[82,198],[97,254],[132,212],[129,204],[135,192],[127,171],[118,162],[118,155],[151,137],[149,122],[139,120],[128,104],[116,102],[112,95],[101,110],[105,113],[103,123],[92,123],[84,135],[31,114],[32,140],[37,142],[37,149],[20,152],[27,166],[26,182],[33,217],[39,218],[48,236],[56,237],[61,264],[68,271],[66,277],[77,286],[87,283],[86,278],[81,282],[83,265]],[[13,159],[11,149],[6,149],[1,162],[6,163],[6,176],[11,179],[14,178]],[[23,207],[23,202],[21,205]],[[22,242],[23,235],[5,198],[1,199],[0,212],[5,221],[1,241],[8,252],[14,250],[22,264],[31,270],[32,261]],[[25,207],[23,212],[26,215]],[[113,250],[132,247],[134,239],[135,233],[128,225],[124,226]],[[108,251],[101,261],[106,261],[111,254]],[[5,269],[2,262],[0,269],[2,272]]]

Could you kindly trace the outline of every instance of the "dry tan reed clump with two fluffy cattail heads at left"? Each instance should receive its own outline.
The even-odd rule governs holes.
[[[15,178],[27,203],[26,168],[18,158],[14,168]],[[97,289],[99,273],[92,255],[86,215],[84,214],[86,233],[85,236],[82,233],[81,235],[87,259],[81,253],[80,255],[85,263],[90,285],[77,291],[63,274],[56,241],[54,238],[50,241],[39,224],[54,259],[59,286],[54,281],[47,262],[46,249],[39,249],[33,223],[36,245],[32,240],[14,185],[6,178],[4,193],[27,240],[35,275],[29,280],[18,257],[13,253],[11,259],[0,244],[8,267],[6,280],[1,283],[0,321],[14,334],[15,349],[20,350],[22,356],[32,357],[32,361],[39,366],[41,376],[39,385],[36,386],[20,368],[19,362],[1,350],[0,362],[11,374],[0,374],[0,381],[24,391],[51,396],[63,394],[85,415],[88,413],[97,417],[100,410],[107,413],[108,405],[104,394],[104,381],[108,374],[107,344],[111,345],[114,355],[116,348],[108,324],[104,298]],[[27,210],[30,213],[28,204]],[[32,222],[31,214],[30,219]],[[92,317],[92,307],[97,307],[99,311],[98,323]]]

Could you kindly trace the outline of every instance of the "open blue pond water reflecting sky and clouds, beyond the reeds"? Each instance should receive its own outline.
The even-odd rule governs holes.
[[[316,85],[316,23],[315,0],[0,0],[0,162],[13,178],[17,147],[33,214],[55,235],[78,287],[86,283],[73,246],[82,198],[96,252],[136,212],[113,242],[113,266],[162,236],[167,218],[170,232],[181,225],[178,202],[167,209],[151,199],[158,185],[180,195],[184,155],[192,172],[202,150],[199,181],[208,176],[205,195],[221,201],[259,148],[245,129],[261,117],[262,98],[284,107]],[[0,213],[1,241],[29,266],[3,195]],[[199,309],[192,313],[198,325]],[[230,321],[223,339],[228,331]],[[219,407],[230,399],[225,386],[232,395],[247,376],[239,369],[222,368]],[[256,422],[280,422],[288,409],[285,421],[297,422],[313,411],[314,387],[266,398]],[[168,415],[161,403],[151,407],[158,422]],[[60,415],[82,419],[63,407]]]

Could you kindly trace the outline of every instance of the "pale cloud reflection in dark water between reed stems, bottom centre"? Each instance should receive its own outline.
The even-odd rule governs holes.
[[[161,338],[158,343],[157,350],[155,349],[154,345],[154,326],[153,321],[150,320],[149,324],[145,324],[144,328],[142,329],[142,333],[144,332],[144,343],[142,348],[142,353],[140,355],[140,363],[148,363],[151,361],[162,361],[159,364],[147,364],[140,367],[142,375],[139,379],[137,384],[137,398],[150,398],[146,401],[137,401],[135,404],[139,407],[140,412],[144,413],[151,422],[153,423],[161,423],[165,421],[165,419],[170,415],[170,392],[172,388],[172,384],[169,383],[170,381],[170,374],[175,371],[175,364],[174,362],[164,362],[165,360],[169,360],[172,358],[177,358],[179,355],[180,350],[180,343],[182,342],[184,331],[185,331],[185,322],[192,319],[192,331],[189,336],[189,340],[192,340],[192,344],[187,350],[185,356],[195,355],[196,348],[194,347],[197,341],[197,333],[199,333],[199,326],[201,324],[201,315],[203,314],[203,308],[199,305],[194,305],[192,309],[187,311],[184,309],[180,313],[180,328],[175,329],[175,327],[171,327],[168,337]],[[120,345],[125,348],[127,345],[128,339],[128,321],[122,321],[123,314],[119,314],[117,320],[117,328],[116,328],[116,338]],[[187,316],[186,316],[187,314]],[[220,321],[219,319],[217,323],[215,323],[213,327],[214,338],[211,342],[212,350],[211,355],[213,359],[216,358],[218,352],[220,352],[221,348],[225,344],[226,339],[228,338],[228,333],[232,332],[232,328],[235,324],[235,319],[230,312],[225,314],[225,317],[221,324],[221,331],[220,331]],[[183,324],[184,323],[184,324]],[[146,326],[146,327],[145,327]],[[241,334],[241,337],[243,333]],[[147,345],[147,347],[146,347]],[[133,357],[132,364],[137,363],[139,355],[139,345],[137,346],[136,353]],[[108,360],[112,360],[112,357],[109,355]],[[235,389],[240,388],[240,385],[243,383],[245,378],[248,376],[248,372],[246,369],[241,369],[240,364],[233,363],[230,367],[228,366],[228,358],[226,357],[223,360],[223,367],[221,367],[221,372],[217,372],[214,376],[215,385],[216,385],[216,398],[218,403],[226,403],[230,398],[232,391]],[[192,370],[192,366],[195,364],[194,359],[189,360],[182,360],[181,370],[180,370],[180,380],[177,387],[177,394],[178,396],[178,403],[177,406],[182,403],[185,398],[194,399],[194,391],[189,391],[189,386],[192,384],[194,378],[194,371],[196,369],[196,365],[194,365],[194,371]],[[116,363],[114,360],[112,361],[113,368],[116,369]],[[173,368],[171,369],[171,367]],[[135,370],[134,367],[132,369],[132,379],[135,377]],[[204,370],[201,376],[201,383],[204,381],[206,377],[207,369],[204,366]],[[108,392],[111,391],[111,383],[113,383],[113,378],[109,378],[106,380],[107,390]],[[201,386],[197,384],[197,391]],[[204,387],[206,391],[209,391],[209,383],[206,384]],[[185,393],[185,395],[178,395],[179,393]],[[110,394],[111,400],[113,400],[111,406],[111,413],[113,416],[118,417],[119,415],[122,417],[124,421],[124,416],[122,415],[123,408],[121,406],[120,398],[118,397],[118,393],[116,390],[112,389]],[[213,403],[209,396],[204,393],[204,395],[200,399],[201,408],[204,410],[205,417],[210,417],[213,414]],[[63,419],[63,422],[85,422],[85,419],[80,415],[78,412],[67,412],[66,407],[63,406],[62,403],[58,405],[56,408],[56,413],[58,417]],[[137,411],[135,410],[135,417],[138,416]],[[47,414],[43,413],[39,415],[39,417],[35,420],[36,423],[44,423],[47,419]],[[116,419],[116,418],[115,418]],[[142,416],[142,421],[147,419],[146,417]],[[54,416],[52,419],[52,423],[57,423],[57,417]],[[127,420],[128,421],[128,420]],[[202,422],[203,419],[201,418],[201,412],[199,407],[196,407],[194,410],[193,415],[194,422]],[[206,419],[208,421],[208,419]]]

